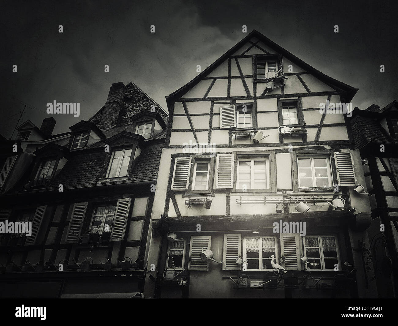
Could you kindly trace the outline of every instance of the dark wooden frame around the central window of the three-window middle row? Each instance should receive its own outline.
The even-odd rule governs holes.
[[[233,152],[234,154],[234,187],[231,192],[233,193],[276,193],[276,166],[275,166],[275,151],[273,150],[258,150],[247,152]],[[252,160],[256,158],[263,158],[268,161],[268,188],[266,189],[246,189],[243,191],[237,188],[238,185],[238,161],[239,160]]]

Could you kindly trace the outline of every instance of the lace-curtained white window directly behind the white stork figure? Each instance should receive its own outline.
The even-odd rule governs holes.
[[[273,269],[271,256],[279,264],[277,238],[275,236],[252,236],[243,238],[243,260],[246,270]],[[245,270],[245,269],[244,269]]]

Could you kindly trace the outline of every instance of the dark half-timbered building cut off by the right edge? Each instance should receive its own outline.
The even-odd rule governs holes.
[[[393,101],[380,110],[372,104],[365,110],[357,107],[351,117],[356,148],[361,153],[365,182],[372,209],[372,225],[365,246],[367,273],[377,283],[380,298],[398,294],[398,103]],[[364,196],[368,196],[363,192]],[[366,264],[371,254],[370,264]]]

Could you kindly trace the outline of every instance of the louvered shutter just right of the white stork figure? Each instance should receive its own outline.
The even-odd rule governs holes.
[[[285,269],[301,270],[301,239],[299,233],[281,233],[281,256],[285,256]],[[278,263],[277,263],[278,264]]]

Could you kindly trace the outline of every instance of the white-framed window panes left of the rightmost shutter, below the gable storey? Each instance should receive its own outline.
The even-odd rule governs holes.
[[[331,187],[332,174],[329,155],[298,155],[298,187]]]

